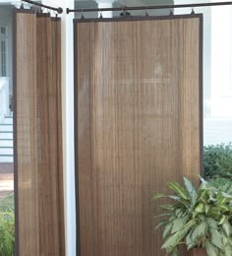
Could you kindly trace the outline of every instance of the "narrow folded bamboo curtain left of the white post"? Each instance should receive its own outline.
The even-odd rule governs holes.
[[[63,256],[59,19],[15,14],[15,164],[20,256]]]

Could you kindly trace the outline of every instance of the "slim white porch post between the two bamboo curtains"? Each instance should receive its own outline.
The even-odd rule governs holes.
[[[74,0],[43,0],[43,4],[62,7],[62,118],[64,158],[64,203],[66,256],[76,255],[76,202],[74,167],[74,51],[73,18],[66,8],[74,9]]]

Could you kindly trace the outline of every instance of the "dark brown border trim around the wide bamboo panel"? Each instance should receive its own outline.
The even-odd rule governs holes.
[[[200,44],[199,44],[199,108],[200,108],[200,173],[203,176],[203,14],[191,15],[169,15],[154,17],[119,17],[102,19],[74,19],[74,123],[75,123],[75,186],[76,186],[76,220],[77,220],[77,256],[81,255],[81,237],[80,237],[80,204],[79,204],[79,165],[78,165],[78,45],[77,45],[77,25],[79,23],[101,23],[101,22],[135,22],[150,20],[177,20],[177,19],[200,19]],[[107,36],[107,35],[106,35]]]

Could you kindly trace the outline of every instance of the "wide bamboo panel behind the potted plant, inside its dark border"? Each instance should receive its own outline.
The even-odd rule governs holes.
[[[201,19],[75,23],[81,256],[165,255],[151,197],[200,173]]]

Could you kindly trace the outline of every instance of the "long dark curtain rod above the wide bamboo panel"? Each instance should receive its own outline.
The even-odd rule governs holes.
[[[139,10],[157,10],[157,9],[175,9],[175,8],[195,8],[195,7],[207,7],[207,6],[221,6],[232,5],[232,2],[215,2],[215,3],[199,3],[199,4],[180,4],[180,5],[156,5],[156,6],[134,6],[134,7],[115,7],[115,8],[89,8],[89,9],[66,9],[69,13],[87,13],[87,12],[107,12],[107,11],[139,11]]]

